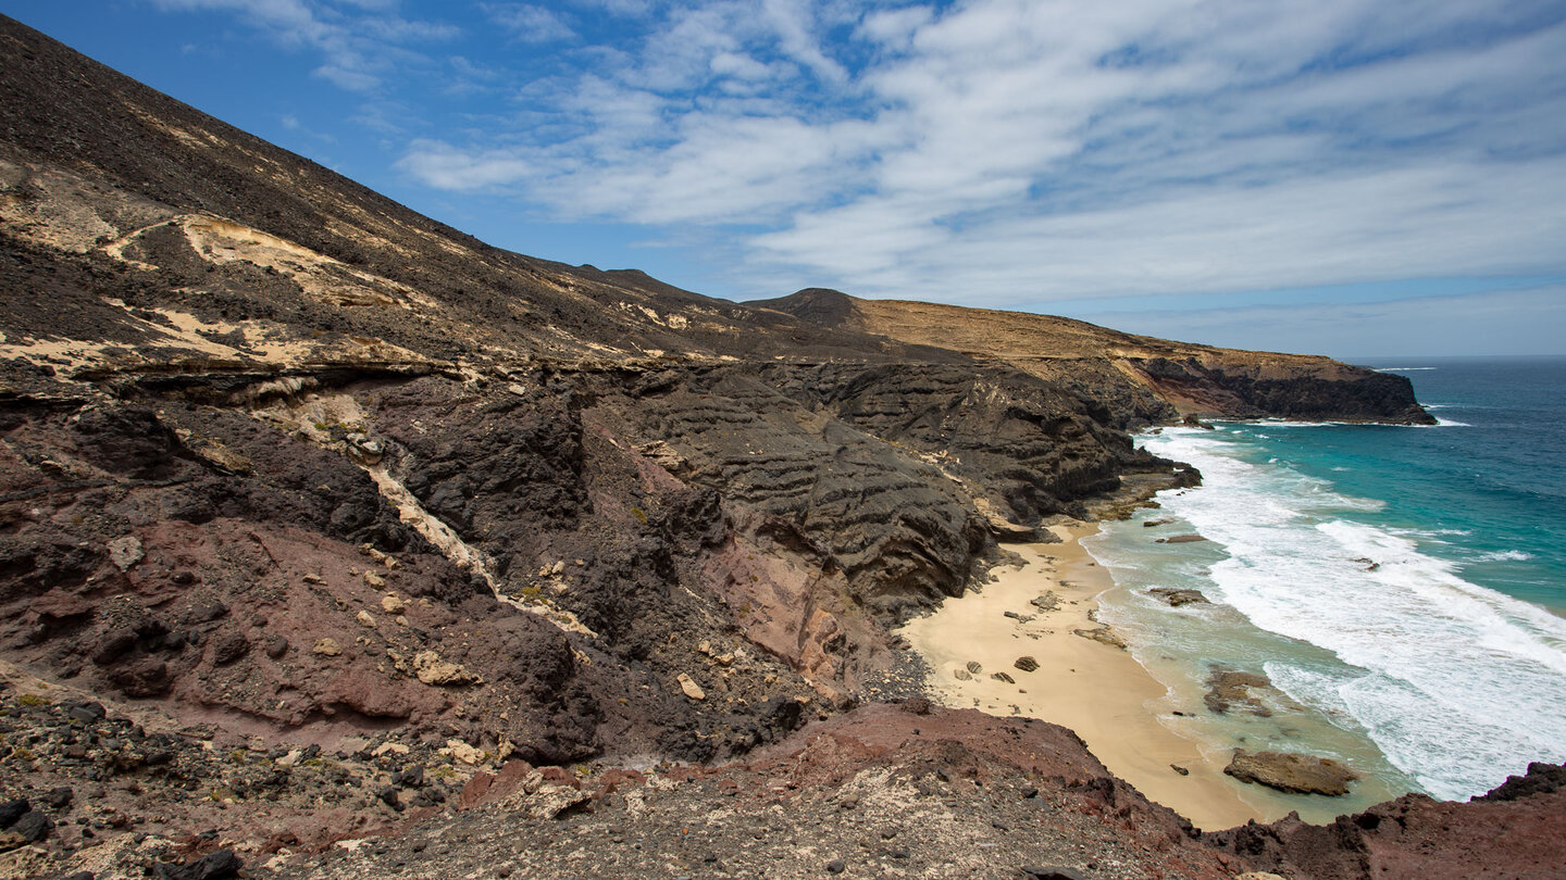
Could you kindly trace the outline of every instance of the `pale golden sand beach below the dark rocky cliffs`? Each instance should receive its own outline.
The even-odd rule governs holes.
[[[947,600],[900,629],[930,664],[936,695],[947,706],[1030,716],[1074,730],[1115,775],[1200,828],[1276,819],[1242,800],[1239,783],[1221,766],[1159,722],[1148,703],[1164,697],[1165,687],[1129,651],[1074,634],[1099,626],[1090,617],[1095,597],[1113,586],[1077,542],[1096,529],[1092,523],[1054,526],[1062,543],[1007,545],[1026,565],[996,568],[982,592]],[[1048,593],[1059,603],[1054,611],[1032,603]],[[1038,669],[1018,669],[1024,656]],[[969,662],[980,670],[969,673]],[[991,678],[998,672],[1015,684]]]

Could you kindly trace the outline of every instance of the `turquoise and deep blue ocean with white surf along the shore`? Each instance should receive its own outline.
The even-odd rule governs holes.
[[[1215,759],[1366,774],[1347,800],[1300,797],[1308,819],[1566,761],[1566,359],[1362,363],[1408,376],[1441,424],[1162,429],[1142,445],[1203,485],[1085,540],[1117,584],[1101,617],[1170,689],[1167,725]],[[1206,540],[1157,543],[1181,534]],[[1204,711],[1221,669],[1267,675],[1273,712]]]

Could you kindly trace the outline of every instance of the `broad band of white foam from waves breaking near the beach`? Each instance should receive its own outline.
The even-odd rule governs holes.
[[[1381,503],[1245,460],[1223,432],[1170,429],[1146,446],[1204,474],[1160,503],[1228,554],[1211,567],[1212,598],[1348,664],[1268,662],[1290,697],[1361,727],[1438,797],[1566,761],[1566,619],[1464,581],[1406,529],[1366,521]]]

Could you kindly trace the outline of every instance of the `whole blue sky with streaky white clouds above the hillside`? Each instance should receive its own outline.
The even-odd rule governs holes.
[[[1566,5],[0,0],[537,257],[1339,357],[1566,354]]]

